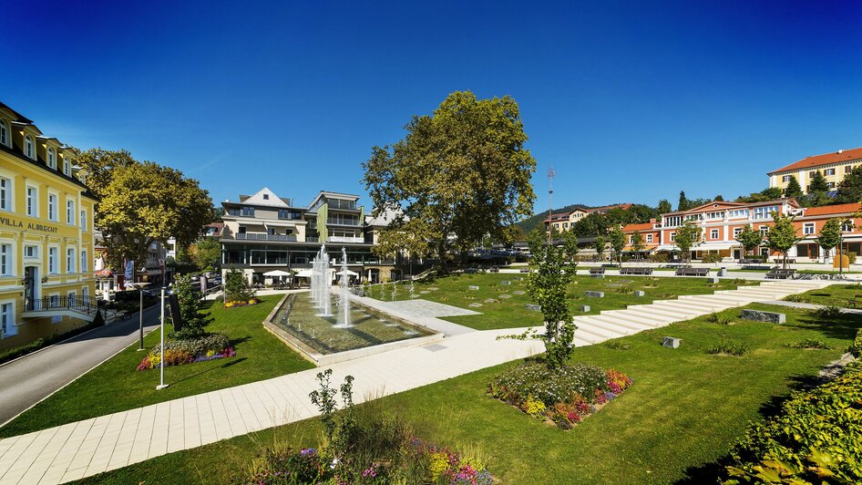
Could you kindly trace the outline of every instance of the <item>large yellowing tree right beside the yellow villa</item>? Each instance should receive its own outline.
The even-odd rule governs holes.
[[[114,267],[123,259],[142,263],[153,242],[170,237],[186,247],[215,217],[209,192],[180,170],[134,160],[125,150],[87,150],[77,162],[99,198],[96,226]]]

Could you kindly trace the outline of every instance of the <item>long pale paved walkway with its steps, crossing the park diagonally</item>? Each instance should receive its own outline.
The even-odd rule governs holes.
[[[634,305],[576,318],[579,346],[754,301],[826,286],[813,281],[770,282],[709,295]],[[333,382],[355,377],[356,402],[461,376],[537,354],[539,341],[497,340],[524,329],[469,332],[441,343],[412,346],[335,364]],[[317,415],[308,394],[317,387],[311,369],[198,396],[130,409],[0,440],[0,483],[60,483],[115,470],[180,449],[190,449]]]

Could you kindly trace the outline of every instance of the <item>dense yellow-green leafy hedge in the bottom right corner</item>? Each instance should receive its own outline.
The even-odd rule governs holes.
[[[862,482],[862,363],[813,390],[795,392],[774,418],[755,423],[731,450],[726,484]]]

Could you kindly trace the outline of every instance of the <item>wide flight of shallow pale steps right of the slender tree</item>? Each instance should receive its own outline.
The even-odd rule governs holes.
[[[780,300],[789,294],[805,293],[832,284],[818,280],[783,280],[758,286],[741,286],[714,294],[682,295],[674,300],[657,300],[652,304],[630,304],[625,310],[607,310],[599,315],[575,317],[575,344],[590,346],[611,338],[631,335],[696,316],[720,312],[753,302]]]

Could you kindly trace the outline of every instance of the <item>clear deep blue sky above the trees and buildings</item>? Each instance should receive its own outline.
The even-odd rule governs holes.
[[[558,207],[675,205],[862,146],[857,2],[125,4],[5,2],[0,100],[216,201],[367,203],[371,147],[462,89],[518,100],[539,211],[549,166]]]

